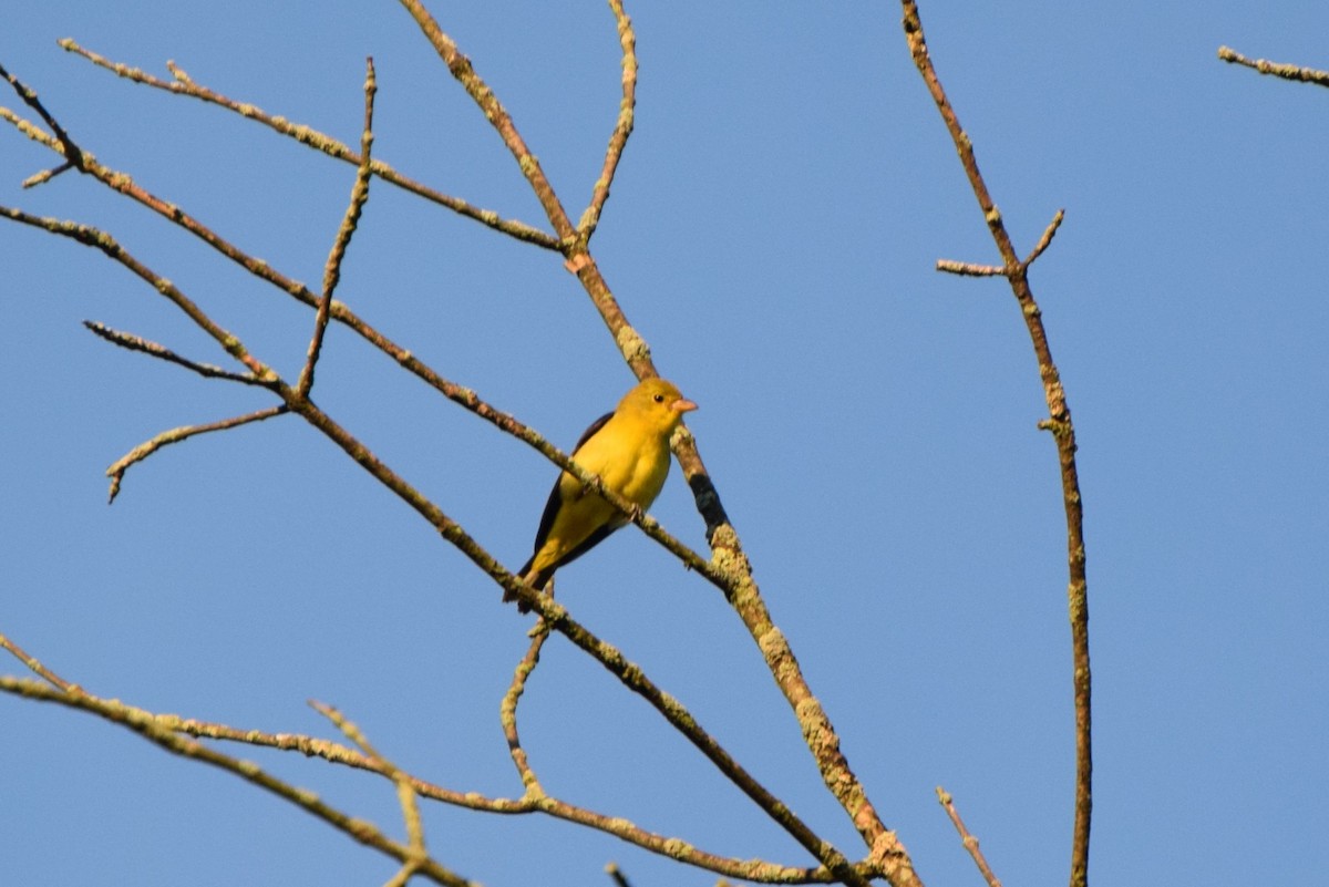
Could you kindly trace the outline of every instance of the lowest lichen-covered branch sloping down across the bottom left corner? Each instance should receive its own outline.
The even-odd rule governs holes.
[[[84,712],[97,714],[105,721],[134,730],[148,741],[170,752],[171,754],[178,754],[194,761],[202,761],[203,764],[209,764],[238,775],[246,782],[256,785],[264,791],[270,791],[283,801],[300,807],[306,813],[327,822],[338,831],[350,835],[359,843],[372,847],[384,855],[392,856],[399,862],[407,862],[412,858],[409,847],[392,841],[379,831],[379,829],[372,823],[342,813],[336,807],[320,801],[312,791],[298,789],[288,782],[278,779],[251,761],[233,758],[203,745],[202,742],[185,738],[161,728],[150,712],[145,712],[144,709],[125,705],[114,700],[101,700],[94,696],[89,696],[88,693],[64,693],[45,684],[19,677],[0,676],[0,692],[13,693],[43,702],[58,702],[60,705],[65,705],[68,708],[81,709]],[[445,887],[478,887],[474,882],[469,882],[460,875],[456,875],[435,859],[421,863],[419,866],[419,874],[429,878],[435,883],[444,884]]]

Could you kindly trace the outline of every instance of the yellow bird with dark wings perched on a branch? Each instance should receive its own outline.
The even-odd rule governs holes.
[[[623,396],[613,413],[601,416],[573,449],[573,461],[598,474],[605,487],[642,511],[650,507],[668,475],[668,440],[696,404],[683,397],[672,382],[647,378]],[[590,493],[567,471],[558,477],[545,514],[540,518],[536,547],[518,575],[533,588],[544,590],[554,571],[582,556],[627,518]],[[512,600],[504,592],[504,600]],[[522,612],[530,609],[520,604]]]

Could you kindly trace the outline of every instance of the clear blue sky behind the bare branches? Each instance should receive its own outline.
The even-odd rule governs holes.
[[[579,214],[618,109],[603,3],[432,4]],[[641,81],[593,248],[688,416],[755,574],[869,797],[928,884],[975,884],[933,787],[1007,884],[1067,875],[1065,523],[1025,325],[893,4],[630,3]],[[924,1],[942,81],[1027,251],[1080,453],[1094,656],[1091,883],[1317,883],[1329,870],[1329,5]],[[381,3],[11,3],[0,64],[85,150],[316,284],[354,169],[120,80],[73,37],[354,142],[528,223],[540,207],[409,16]],[[17,108],[9,94],[0,104]],[[100,226],[282,372],[311,313],[0,133],[0,203]],[[0,224],[0,632],[154,712],[332,737],[516,797],[498,702],[529,617],[294,417],[105,466],[271,404],[82,320],[227,359],[100,254]],[[561,258],[376,182],[338,291],[567,447],[633,378]],[[556,469],[334,328],[315,398],[510,568]],[[703,527],[675,469],[653,509]],[[718,592],[626,530],[560,574],[573,613],[851,855],[797,725]],[[17,661],[4,673],[25,673]],[[708,851],[809,859],[641,700],[554,640],[522,704],[546,787]],[[0,883],[372,884],[395,866],[126,730],[0,696]],[[391,786],[223,746],[401,834]],[[427,805],[488,884],[712,884],[601,834]]]

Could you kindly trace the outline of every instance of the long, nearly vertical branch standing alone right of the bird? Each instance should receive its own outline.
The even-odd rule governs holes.
[[[901,0],[904,7],[905,39],[909,42],[909,52],[914,65],[928,85],[928,92],[937,104],[946,130],[950,133],[956,150],[960,153],[960,162],[965,167],[965,175],[974,190],[978,206],[983,211],[987,230],[1001,252],[1003,274],[1010,280],[1011,291],[1019,303],[1021,313],[1029,328],[1029,337],[1034,345],[1034,355],[1038,359],[1038,374],[1043,382],[1043,396],[1047,401],[1049,418],[1039,422],[1039,428],[1051,432],[1057,442],[1057,455],[1062,475],[1062,501],[1066,510],[1066,548],[1067,571],[1067,602],[1071,623],[1071,657],[1073,675],[1071,684],[1075,696],[1075,825],[1071,837],[1071,887],[1083,887],[1088,883],[1088,835],[1090,817],[1092,811],[1092,746],[1091,746],[1091,718],[1090,718],[1090,661],[1088,661],[1088,586],[1084,572],[1084,511],[1080,502],[1079,474],[1075,467],[1075,426],[1071,424],[1071,410],[1066,402],[1066,390],[1062,388],[1061,373],[1053,361],[1053,352],[1047,344],[1047,332],[1043,328],[1042,312],[1034,301],[1034,293],[1029,287],[1029,262],[1021,262],[1011,244],[1010,235],[1002,222],[1001,211],[993,202],[978,171],[978,161],[974,157],[974,146],[969,135],[960,125],[960,118],[946,98],[946,92],[937,78],[937,70],[928,54],[928,44],[924,39],[922,23],[918,19],[918,4],[916,0]],[[1059,222],[1058,218],[1055,222]],[[1054,223],[1055,224],[1055,223]],[[1051,228],[1051,230],[1055,230]],[[1045,235],[1050,240],[1051,234]],[[1030,260],[1037,258],[1031,254]]]

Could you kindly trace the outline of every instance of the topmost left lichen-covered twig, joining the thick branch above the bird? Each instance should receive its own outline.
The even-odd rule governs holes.
[[[178,96],[189,96],[191,98],[198,98],[199,101],[217,105],[218,108],[225,108],[226,110],[234,112],[241,117],[247,117],[249,120],[262,123],[268,129],[280,133],[282,135],[294,138],[295,141],[303,145],[308,145],[310,147],[314,147],[315,150],[319,150],[323,154],[327,154],[328,157],[336,158],[347,163],[355,163],[355,165],[360,163],[360,155],[356,154],[354,150],[351,150],[351,147],[344,142],[339,142],[331,135],[320,133],[319,130],[311,126],[304,126],[303,123],[292,123],[286,117],[268,114],[267,112],[254,105],[250,105],[249,102],[238,102],[235,100],[227,98],[226,96],[222,96],[221,93],[213,92],[205,86],[199,86],[187,76],[181,77],[179,74],[177,74],[175,72],[178,72],[179,69],[173,62],[169,62],[169,66],[171,73],[175,74],[175,80],[170,81],[170,80],[161,80],[159,77],[153,77],[152,74],[144,72],[140,68],[133,68],[130,65],[124,65],[121,62],[110,61],[109,58],[98,56],[97,53],[89,49],[84,49],[77,42],[69,39],[61,40],[60,46],[77,56],[82,56],[84,58],[97,65],[98,68],[110,70],[118,74],[120,77],[130,80],[136,84],[153,86],[155,89],[163,89],[169,93],[175,93]],[[381,178],[384,182],[396,185],[403,190],[411,191],[412,194],[423,197],[424,199],[432,203],[437,203],[439,206],[447,207],[459,215],[464,215],[468,219],[480,222],[481,224],[485,224],[496,231],[501,231],[502,234],[506,234],[512,238],[516,238],[525,243],[533,243],[545,250],[558,250],[557,238],[552,238],[546,232],[534,228],[524,222],[518,222],[516,219],[504,219],[493,210],[485,210],[477,206],[472,206],[466,201],[455,198],[452,195],[444,194],[425,185],[421,185],[420,182],[416,182],[415,179],[408,178],[401,173],[397,173],[393,167],[384,163],[383,161],[373,161],[373,174]]]

